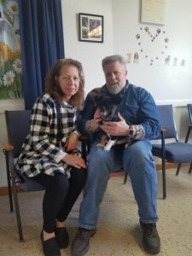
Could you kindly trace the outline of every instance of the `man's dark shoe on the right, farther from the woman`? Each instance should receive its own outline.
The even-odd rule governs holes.
[[[156,224],[141,224],[143,229],[143,247],[147,253],[160,253],[160,236],[158,235]]]

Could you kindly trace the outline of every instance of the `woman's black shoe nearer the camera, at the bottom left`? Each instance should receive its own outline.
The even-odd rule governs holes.
[[[44,241],[44,233],[41,232],[41,242],[43,246],[44,256],[61,256],[60,248],[55,240],[55,237]]]

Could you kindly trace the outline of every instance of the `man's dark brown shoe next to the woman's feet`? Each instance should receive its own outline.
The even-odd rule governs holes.
[[[71,253],[73,256],[83,256],[90,248],[90,237],[96,234],[96,229],[87,230],[79,228],[72,242]]]

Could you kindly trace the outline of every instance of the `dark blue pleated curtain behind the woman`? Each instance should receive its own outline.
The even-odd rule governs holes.
[[[25,108],[44,93],[49,67],[64,58],[61,0],[19,0]]]

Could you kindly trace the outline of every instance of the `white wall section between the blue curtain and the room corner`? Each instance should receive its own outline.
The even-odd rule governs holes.
[[[81,61],[85,73],[85,92],[104,84],[102,58],[113,55],[113,10],[111,0],[61,0],[66,57]],[[78,14],[104,16],[104,42],[79,41]]]

